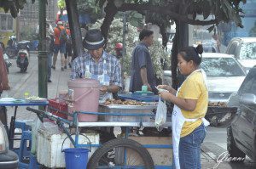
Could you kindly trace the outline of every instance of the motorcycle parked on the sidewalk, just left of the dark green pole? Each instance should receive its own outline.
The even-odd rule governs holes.
[[[28,66],[28,51],[26,49],[20,49],[16,60],[17,66],[20,68],[20,72],[26,72]]]

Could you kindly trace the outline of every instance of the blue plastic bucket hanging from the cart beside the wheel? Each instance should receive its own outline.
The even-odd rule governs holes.
[[[69,148],[64,149],[67,169],[87,168],[89,149]]]

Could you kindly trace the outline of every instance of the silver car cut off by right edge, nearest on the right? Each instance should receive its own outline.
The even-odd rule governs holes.
[[[228,105],[238,107],[236,120],[227,128],[229,157],[242,162],[248,155],[256,161],[256,67],[249,71]]]

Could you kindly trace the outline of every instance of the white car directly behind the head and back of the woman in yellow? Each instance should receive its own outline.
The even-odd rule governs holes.
[[[245,70],[230,54],[203,53],[201,68],[207,74],[210,102],[226,103],[246,76]]]

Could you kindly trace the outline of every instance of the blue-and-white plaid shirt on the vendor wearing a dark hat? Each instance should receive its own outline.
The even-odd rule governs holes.
[[[70,78],[75,79],[85,76],[86,65],[89,65],[91,75],[99,76],[103,74],[103,70],[107,70],[108,76],[110,76],[109,84],[122,87],[121,65],[119,59],[116,59],[113,55],[103,52],[98,63],[96,63],[89,53],[85,53],[82,56],[75,58],[73,60]]]

